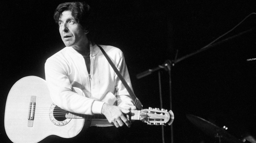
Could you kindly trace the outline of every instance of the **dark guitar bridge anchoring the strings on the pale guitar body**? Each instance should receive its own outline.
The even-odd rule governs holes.
[[[33,126],[33,120],[35,116],[35,98],[36,96],[31,96],[30,103],[29,103],[28,127]]]

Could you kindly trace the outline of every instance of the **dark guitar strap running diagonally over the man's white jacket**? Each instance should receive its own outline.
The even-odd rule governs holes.
[[[133,90],[131,89],[131,87],[129,87],[129,85],[127,84],[127,82],[125,81],[125,79],[123,78],[123,76],[121,75],[121,73],[117,70],[117,67],[115,66],[115,64],[112,62],[112,60],[110,59],[110,57],[107,55],[107,53],[103,50],[103,48],[99,45],[97,45],[99,47],[99,49],[101,50],[101,52],[103,53],[103,55],[106,57],[106,59],[108,60],[109,64],[111,65],[111,67],[113,68],[113,70],[116,72],[117,76],[119,77],[119,79],[121,80],[121,82],[123,83],[124,87],[126,88],[126,90],[128,91],[128,93],[130,94],[135,106],[137,107],[138,110],[142,109],[142,104],[140,103],[139,99],[135,96]]]

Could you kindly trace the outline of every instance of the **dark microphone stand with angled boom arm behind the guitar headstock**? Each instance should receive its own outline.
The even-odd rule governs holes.
[[[184,59],[187,59],[187,58],[189,58],[189,57],[191,57],[191,56],[194,56],[194,55],[199,54],[199,53],[201,53],[201,52],[203,52],[203,51],[205,51],[205,50],[208,50],[208,49],[210,49],[210,48],[212,48],[212,47],[215,47],[215,46],[217,46],[217,45],[219,45],[219,44],[221,44],[221,43],[224,43],[224,42],[226,42],[226,41],[228,41],[228,40],[231,40],[231,39],[240,37],[241,35],[244,35],[245,33],[252,32],[252,31],[254,31],[254,30],[255,30],[255,28],[251,28],[251,29],[249,29],[249,30],[243,31],[243,32],[241,32],[241,33],[239,33],[239,34],[237,34],[237,35],[234,35],[234,36],[228,37],[228,38],[226,38],[226,39],[224,39],[224,40],[222,40],[222,41],[216,42],[215,44],[211,44],[211,45],[209,45],[209,46],[207,45],[207,46],[201,48],[200,50],[198,50],[198,51],[196,51],[196,52],[193,52],[193,53],[191,53],[191,54],[188,54],[188,55],[186,55],[186,56],[183,56],[183,57],[181,57],[181,58],[179,58],[179,59],[176,59],[176,58],[177,58],[177,54],[178,54],[178,51],[177,51],[174,61],[171,61],[171,60],[168,59],[168,60],[166,60],[166,61],[164,62],[164,64],[159,65],[158,67],[156,67],[156,68],[154,68],[154,69],[149,69],[149,70],[147,70],[147,71],[143,71],[143,72],[137,74],[136,77],[137,77],[137,79],[140,79],[140,78],[142,78],[142,77],[145,77],[145,76],[147,76],[147,75],[152,74],[152,73],[155,72],[155,71],[159,71],[160,69],[165,69],[165,70],[167,70],[167,71],[168,71],[168,75],[169,75],[170,110],[172,110],[172,79],[171,79],[171,69],[172,69],[171,67],[172,67],[172,66],[174,66],[174,65],[177,64],[178,62],[181,62],[181,61],[184,60]],[[171,124],[171,143],[173,143],[173,142],[174,142],[174,141],[173,141],[173,124]]]

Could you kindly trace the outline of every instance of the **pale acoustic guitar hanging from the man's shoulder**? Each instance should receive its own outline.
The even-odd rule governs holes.
[[[74,88],[74,92],[83,95],[79,88]],[[170,125],[174,114],[171,110],[149,108],[131,110],[127,118],[153,125]],[[106,118],[103,115],[75,114],[59,108],[51,100],[46,81],[27,76],[11,87],[6,101],[4,125],[12,142],[36,143],[49,135],[74,137],[82,128],[89,127],[92,119]]]

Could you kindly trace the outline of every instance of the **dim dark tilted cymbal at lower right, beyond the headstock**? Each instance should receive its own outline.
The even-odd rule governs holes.
[[[200,130],[202,130],[206,135],[210,137],[219,137],[221,140],[228,143],[243,143],[235,136],[230,135],[224,128],[220,128],[203,118],[190,114],[187,114],[186,116],[190,122],[192,122],[194,125],[196,125]]]

